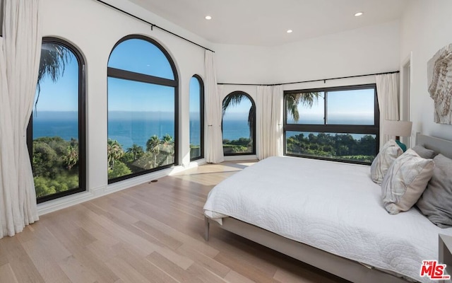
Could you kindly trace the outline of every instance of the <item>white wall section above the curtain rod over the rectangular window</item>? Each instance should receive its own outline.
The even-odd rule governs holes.
[[[218,82],[283,83],[399,69],[398,21],[276,47],[215,45]]]

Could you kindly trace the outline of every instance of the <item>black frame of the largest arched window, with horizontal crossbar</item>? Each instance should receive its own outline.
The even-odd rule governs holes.
[[[149,42],[152,45],[155,45],[167,58],[169,65],[171,66],[174,80],[172,79],[165,79],[158,76],[152,76],[148,74],[141,74],[136,73],[133,71],[126,71],[122,69],[116,69],[112,67],[108,67],[109,58],[112,56],[112,53],[114,52],[114,49],[121,44],[122,42],[126,40],[132,40],[132,39],[138,39],[138,40],[145,40]],[[117,183],[122,180],[127,180],[130,178],[134,178],[140,175],[145,175],[148,173],[152,173],[155,171],[160,171],[165,168],[171,168],[173,166],[179,165],[179,74],[177,73],[176,65],[174,64],[174,60],[169,55],[169,52],[160,45],[159,42],[156,40],[153,40],[150,37],[147,37],[145,35],[126,35],[125,37],[122,37],[112,48],[112,51],[109,54],[108,60],[107,60],[107,131],[108,131],[108,78],[112,77],[115,79],[124,79],[128,81],[137,81],[141,83],[152,83],[157,84],[160,86],[171,86],[174,87],[174,163],[167,164],[165,166],[160,166],[148,170],[143,170],[136,173],[131,173],[129,175],[124,175],[117,178],[108,179],[108,184]],[[108,134],[107,134],[108,137]]]

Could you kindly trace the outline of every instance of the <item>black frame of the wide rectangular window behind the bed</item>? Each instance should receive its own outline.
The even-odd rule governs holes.
[[[328,92],[329,91],[355,91],[360,89],[369,89],[374,88],[374,125],[328,125],[326,122],[328,120],[328,112],[327,112],[327,100],[328,100]],[[313,125],[313,124],[287,124],[287,106],[286,106],[286,94],[290,93],[312,93],[312,92],[324,92],[325,97],[323,98],[323,124],[321,125]],[[304,157],[304,158],[313,158],[327,161],[338,161],[343,163],[355,163],[355,164],[363,164],[369,165],[370,163],[362,162],[362,161],[352,161],[352,160],[343,160],[336,158],[325,158],[321,156],[309,156],[304,154],[287,154],[287,137],[286,132],[318,132],[318,133],[339,133],[339,134],[375,134],[376,135],[376,153],[379,153],[379,137],[380,137],[380,110],[379,110],[379,101],[376,93],[376,84],[368,83],[356,86],[335,86],[330,88],[307,88],[301,90],[290,90],[284,91],[284,99],[283,99],[283,139],[284,139],[284,155],[285,156],[295,156],[295,157]]]

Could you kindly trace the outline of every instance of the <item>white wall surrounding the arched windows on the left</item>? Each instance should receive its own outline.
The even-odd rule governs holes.
[[[125,1],[109,0],[145,20],[167,28],[190,40],[208,45],[206,40]],[[122,6],[121,6],[122,5]],[[153,38],[172,56],[179,75],[179,164],[189,164],[189,81],[191,76],[204,76],[204,50],[189,42],[123,13],[114,11],[94,0],[43,0],[42,35],[60,37],[78,47],[85,58],[87,83],[87,149],[88,192],[63,200],[40,204],[40,213],[50,212],[68,204],[88,200],[95,195],[120,190],[136,183],[169,173],[163,171],[107,185],[107,61],[115,43],[122,37],[141,34]]]

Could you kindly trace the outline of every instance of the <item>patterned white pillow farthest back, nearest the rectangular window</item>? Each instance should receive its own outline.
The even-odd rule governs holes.
[[[370,166],[370,177],[371,179],[377,183],[381,184],[381,181],[388,171],[389,167],[391,167],[392,163],[403,154],[402,149],[396,143],[395,140],[390,139],[383,145],[380,149],[379,154],[375,156],[374,161]]]

